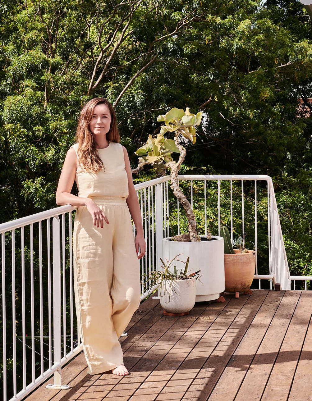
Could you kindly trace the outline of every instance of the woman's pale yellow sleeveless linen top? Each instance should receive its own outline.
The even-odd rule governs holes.
[[[71,147],[78,157],[78,144]],[[79,166],[76,171],[78,196],[82,198],[126,198],[129,193],[128,176],[125,170],[122,145],[116,142],[109,142],[107,148],[97,149],[97,151],[105,169],[94,173],[86,170],[83,166]]]

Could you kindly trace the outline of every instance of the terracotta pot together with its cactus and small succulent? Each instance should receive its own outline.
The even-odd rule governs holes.
[[[255,274],[255,251],[246,249],[243,237],[233,240],[233,249],[230,233],[227,227],[221,227],[221,237],[224,239],[224,270],[225,292],[239,292],[252,294],[250,290]]]

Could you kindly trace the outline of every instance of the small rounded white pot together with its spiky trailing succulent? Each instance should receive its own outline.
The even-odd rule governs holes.
[[[180,255],[162,262],[161,269],[152,271],[147,275],[150,288],[159,286],[160,288],[160,305],[164,309],[164,314],[169,315],[185,315],[193,308],[196,298],[196,280],[199,279],[200,270],[191,273],[188,271],[188,262],[178,259]],[[182,269],[178,269],[174,262],[184,265]]]

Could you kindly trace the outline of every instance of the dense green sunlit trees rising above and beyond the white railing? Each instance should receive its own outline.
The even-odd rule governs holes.
[[[312,274],[311,39],[299,1],[2,0],[0,222],[56,206],[87,100],[115,105],[133,167],[157,115],[190,107],[183,172],[269,174],[291,273]]]

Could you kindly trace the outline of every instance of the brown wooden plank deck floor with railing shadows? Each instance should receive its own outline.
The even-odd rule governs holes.
[[[121,338],[129,376],[88,375],[80,354],[63,371],[69,390],[26,400],[312,400],[312,291],[225,298],[181,317],[149,298]]]

